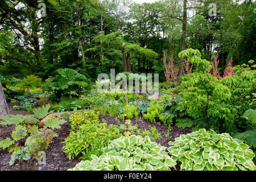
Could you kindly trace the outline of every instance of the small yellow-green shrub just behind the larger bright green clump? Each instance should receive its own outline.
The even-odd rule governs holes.
[[[99,123],[98,115],[99,113],[94,110],[73,111],[69,117],[72,130],[79,129],[80,126],[88,123]]]

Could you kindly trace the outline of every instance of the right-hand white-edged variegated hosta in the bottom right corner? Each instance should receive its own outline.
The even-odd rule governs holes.
[[[241,140],[228,133],[217,134],[213,130],[200,129],[180,135],[168,151],[172,159],[185,171],[238,171],[256,169],[252,159],[254,152]]]

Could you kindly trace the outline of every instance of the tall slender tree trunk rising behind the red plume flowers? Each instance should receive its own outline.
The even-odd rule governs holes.
[[[182,40],[181,40],[181,51],[185,50],[185,39],[186,39],[186,33],[187,33],[187,1],[183,0],[183,23],[182,23]],[[179,67],[179,84],[182,80],[182,70],[183,70],[183,64],[184,64],[184,57],[180,58],[180,67]]]

